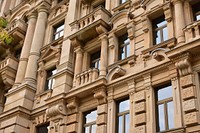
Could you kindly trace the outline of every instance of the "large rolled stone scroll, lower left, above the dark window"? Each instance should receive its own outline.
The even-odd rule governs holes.
[[[53,117],[57,115],[65,115],[66,109],[63,104],[54,105],[46,110],[46,114],[48,117]]]

